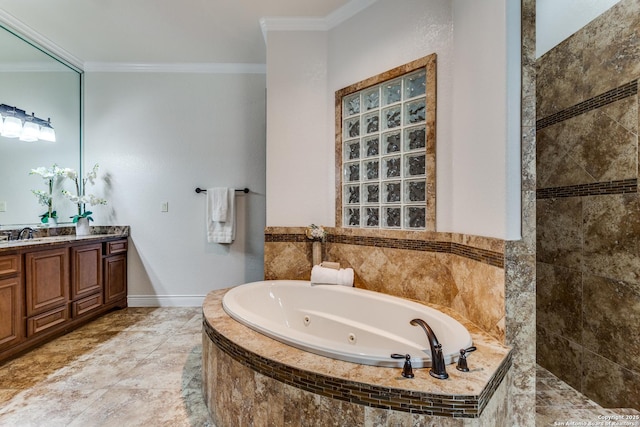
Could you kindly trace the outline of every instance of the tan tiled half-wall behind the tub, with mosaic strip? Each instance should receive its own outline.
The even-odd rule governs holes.
[[[267,227],[265,279],[309,280],[305,227]],[[437,232],[326,228],[324,259],[354,269],[354,286],[456,310],[504,341],[504,241]]]

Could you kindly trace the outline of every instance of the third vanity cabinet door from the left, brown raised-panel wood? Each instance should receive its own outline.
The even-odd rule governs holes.
[[[71,299],[102,291],[102,244],[71,248]]]

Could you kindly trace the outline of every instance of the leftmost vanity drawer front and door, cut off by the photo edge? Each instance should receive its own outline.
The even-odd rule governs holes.
[[[20,266],[18,254],[0,255],[0,351],[24,340]]]

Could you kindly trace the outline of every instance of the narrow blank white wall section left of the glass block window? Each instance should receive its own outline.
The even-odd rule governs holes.
[[[267,38],[267,224],[333,223],[333,145],[327,126],[327,34]],[[333,116],[333,113],[330,113]]]

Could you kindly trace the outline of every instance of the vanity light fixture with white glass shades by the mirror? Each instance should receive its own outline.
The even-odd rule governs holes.
[[[28,115],[24,110],[6,104],[0,104],[0,136],[27,142],[56,140],[51,119],[43,120],[34,113]]]

